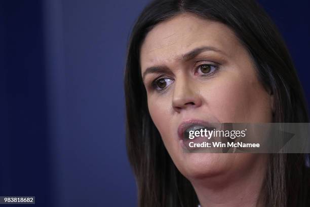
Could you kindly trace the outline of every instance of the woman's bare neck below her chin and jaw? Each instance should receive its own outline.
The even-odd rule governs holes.
[[[235,174],[190,179],[201,207],[263,206],[261,192],[267,168],[267,155],[258,156],[250,170]]]

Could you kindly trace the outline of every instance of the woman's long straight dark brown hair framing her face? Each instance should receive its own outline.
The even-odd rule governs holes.
[[[302,87],[276,26],[254,0],[160,0],[136,21],[125,71],[126,133],[139,206],[197,206],[197,195],[181,175],[154,126],[141,78],[140,47],[148,31],[181,13],[194,13],[231,28],[251,55],[260,82],[275,97],[274,122],[308,122]],[[306,154],[270,154],[262,191],[265,206],[310,206]]]

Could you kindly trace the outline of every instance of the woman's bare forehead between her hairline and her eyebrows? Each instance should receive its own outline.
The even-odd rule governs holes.
[[[234,32],[222,23],[190,13],[177,15],[148,32],[140,53],[142,71],[148,64],[174,61],[202,46],[233,55],[240,43]]]

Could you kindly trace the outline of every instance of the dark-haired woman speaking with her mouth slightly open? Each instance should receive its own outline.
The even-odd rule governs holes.
[[[125,73],[139,206],[309,206],[304,154],[184,153],[180,132],[224,122],[308,122],[275,25],[254,1],[154,1]]]

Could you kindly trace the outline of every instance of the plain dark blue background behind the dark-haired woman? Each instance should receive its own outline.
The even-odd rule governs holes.
[[[147,2],[0,1],[0,195],[34,195],[36,206],[136,205],[123,74]],[[259,2],[310,100],[310,2]]]

